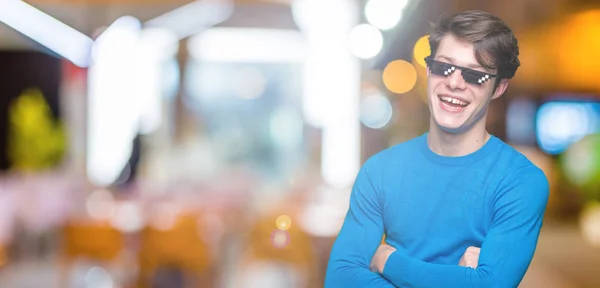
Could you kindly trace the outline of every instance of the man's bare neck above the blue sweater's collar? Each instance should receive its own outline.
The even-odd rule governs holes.
[[[427,144],[429,149],[441,156],[458,157],[479,150],[490,138],[485,121],[475,124],[470,130],[452,134],[442,130],[433,120],[429,125]]]

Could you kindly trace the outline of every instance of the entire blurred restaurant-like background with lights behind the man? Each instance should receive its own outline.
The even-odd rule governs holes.
[[[467,9],[519,39],[488,128],[551,182],[521,287],[600,287],[594,0],[0,0],[0,286],[322,287]]]

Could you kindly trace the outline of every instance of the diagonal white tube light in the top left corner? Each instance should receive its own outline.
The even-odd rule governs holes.
[[[19,0],[0,0],[0,21],[79,67],[87,67],[93,40]]]

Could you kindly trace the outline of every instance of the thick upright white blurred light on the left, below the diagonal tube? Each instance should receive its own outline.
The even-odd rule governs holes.
[[[95,185],[110,185],[118,178],[139,128],[138,93],[132,76],[137,73],[140,28],[137,19],[121,17],[93,47],[88,73],[87,174]]]

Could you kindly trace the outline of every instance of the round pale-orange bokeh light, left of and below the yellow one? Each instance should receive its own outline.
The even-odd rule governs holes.
[[[415,87],[417,71],[415,67],[404,60],[395,60],[383,70],[383,84],[397,94],[403,94]]]

